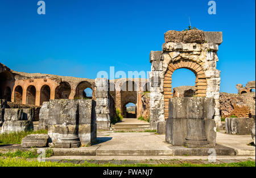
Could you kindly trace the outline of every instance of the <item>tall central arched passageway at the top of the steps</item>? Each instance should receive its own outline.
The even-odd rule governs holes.
[[[137,85],[133,81],[126,81],[121,86],[121,106],[123,118],[127,117],[126,105],[137,104]],[[133,117],[137,118],[137,111]]]

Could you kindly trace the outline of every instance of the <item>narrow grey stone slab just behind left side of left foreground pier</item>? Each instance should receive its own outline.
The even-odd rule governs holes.
[[[39,130],[48,130],[49,102],[43,102],[39,113]]]

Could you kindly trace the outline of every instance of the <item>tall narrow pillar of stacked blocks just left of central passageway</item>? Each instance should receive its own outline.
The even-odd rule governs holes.
[[[110,128],[110,104],[109,104],[109,80],[96,78],[96,123],[97,129],[109,130]]]

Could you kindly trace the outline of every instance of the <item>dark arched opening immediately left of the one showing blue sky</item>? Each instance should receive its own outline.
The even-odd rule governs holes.
[[[68,82],[60,82],[55,89],[55,99],[68,99],[71,93],[71,86]]]

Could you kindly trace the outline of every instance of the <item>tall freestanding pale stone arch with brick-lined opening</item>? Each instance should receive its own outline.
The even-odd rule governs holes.
[[[216,69],[218,45],[222,32],[200,30],[168,31],[164,35],[163,51],[150,52],[150,123],[156,129],[158,122],[168,118],[168,100],[172,98],[172,73],[186,68],[195,73],[196,96],[213,97],[214,119],[221,127],[219,107],[220,71]]]

